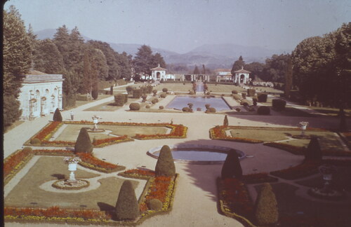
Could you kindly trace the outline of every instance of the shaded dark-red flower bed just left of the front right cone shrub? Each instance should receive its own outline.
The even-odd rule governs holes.
[[[217,187],[220,211],[244,226],[254,226],[249,221],[253,217],[253,203],[244,183],[235,178],[218,178]]]

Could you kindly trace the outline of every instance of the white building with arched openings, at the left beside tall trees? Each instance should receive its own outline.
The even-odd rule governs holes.
[[[22,109],[22,120],[30,120],[62,110],[61,74],[44,74],[40,71],[29,71],[22,83],[18,100]]]

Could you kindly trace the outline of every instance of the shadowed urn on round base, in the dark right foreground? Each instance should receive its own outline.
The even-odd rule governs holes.
[[[343,193],[333,189],[331,182],[333,181],[333,173],[336,172],[336,167],[333,165],[321,165],[319,166],[319,172],[323,175],[324,185],[322,188],[311,188],[310,195],[327,199],[327,200],[338,200],[343,198]]]

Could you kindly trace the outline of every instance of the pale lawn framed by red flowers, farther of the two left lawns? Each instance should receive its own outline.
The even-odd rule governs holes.
[[[71,125],[67,124],[65,129],[60,132],[60,135],[55,138],[58,141],[75,142],[81,128],[93,128],[93,125]],[[154,127],[154,126],[128,126],[128,125],[98,125],[99,129],[111,130],[109,132],[112,135],[122,136],[127,135],[128,137],[134,137],[136,134],[142,135],[155,135],[155,134],[166,134],[168,128],[165,127]],[[94,139],[105,139],[109,138],[106,132],[89,132],[91,140]]]

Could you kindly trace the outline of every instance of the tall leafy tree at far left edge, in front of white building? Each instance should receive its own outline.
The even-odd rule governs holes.
[[[20,94],[23,75],[32,62],[31,43],[24,22],[15,6],[4,11],[3,43],[3,92],[4,92],[4,127],[8,127],[20,118]]]

